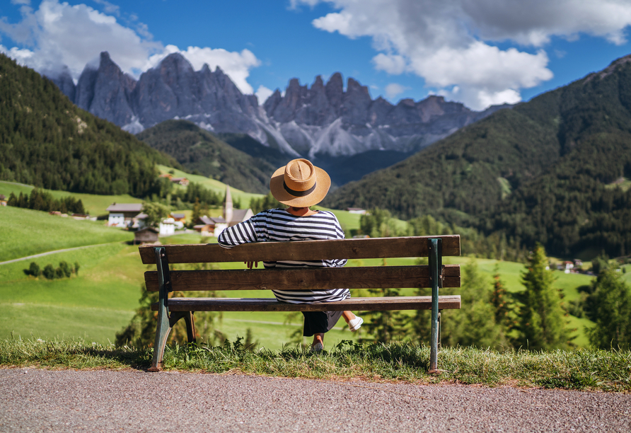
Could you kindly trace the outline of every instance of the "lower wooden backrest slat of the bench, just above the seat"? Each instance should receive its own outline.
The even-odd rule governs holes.
[[[443,287],[461,287],[460,265],[444,265]],[[158,272],[144,273],[148,291],[158,291]],[[170,271],[173,290],[296,290],[430,287],[429,266],[325,267],[279,270]]]

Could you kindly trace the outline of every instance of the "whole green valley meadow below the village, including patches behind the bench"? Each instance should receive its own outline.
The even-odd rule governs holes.
[[[6,184],[1,183],[0,186],[4,187]],[[98,202],[103,198],[91,200]],[[335,211],[335,214],[347,233],[349,229],[359,227],[359,215],[343,211]],[[8,319],[0,323],[0,339],[11,336],[42,340],[82,337],[86,341],[102,344],[113,341],[115,333],[129,323],[138,308],[144,271],[153,269],[142,265],[138,247],[129,245],[133,238],[132,233],[108,228],[103,225],[103,221],[76,221],[54,217],[47,212],[13,207],[0,208],[0,219],[3,222],[0,224],[0,257],[5,258],[4,260],[84,247],[0,264],[0,306]],[[216,242],[216,238],[202,239],[197,233],[185,233],[162,238],[162,242],[210,243]],[[79,262],[79,274],[47,280],[44,277],[30,277],[23,272],[30,262],[36,262],[43,268],[47,264],[57,267],[62,260],[71,264]],[[497,268],[506,289],[522,289],[520,279],[523,265],[519,263],[466,257],[445,258],[444,262],[464,265],[471,260],[477,263],[488,284],[492,284],[492,275]],[[412,265],[415,262],[412,258],[388,259],[388,265]],[[382,264],[380,259],[349,262],[349,266]],[[222,267],[243,268],[244,265],[226,263]],[[555,276],[555,284],[562,290],[565,301],[577,298],[577,288],[591,282],[591,277],[586,275],[555,272]],[[627,276],[631,276],[631,272],[625,278]],[[405,294],[412,292],[409,289]],[[366,291],[361,290],[353,291],[353,294],[367,296]],[[272,297],[272,294],[239,291],[224,292],[221,296]],[[445,320],[453,314],[458,314],[458,311],[448,311]],[[574,342],[579,347],[586,347],[588,342],[584,327],[591,325],[591,322],[573,316],[568,316],[568,319],[570,326],[577,329]],[[259,347],[279,349],[289,344],[291,335],[300,330],[302,318],[296,316],[292,323],[286,322],[286,313],[223,313],[215,325],[228,340],[234,341],[238,336],[245,337],[249,328],[254,340],[259,342]],[[349,333],[341,322],[327,335],[327,345],[330,347],[341,340],[356,338],[357,334]]]

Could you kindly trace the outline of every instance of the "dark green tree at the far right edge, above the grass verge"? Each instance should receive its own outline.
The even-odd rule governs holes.
[[[593,292],[588,304],[594,306],[586,311],[596,323],[589,329],[589,342],[600,349],[623,349],[631,347],[631,289],[618,272],[604,270],[592,283]]]

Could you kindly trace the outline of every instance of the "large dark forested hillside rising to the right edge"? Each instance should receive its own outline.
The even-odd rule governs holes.
[[[328,207],[432,214],[556,255],[631,250],[631,57],[500,110],[359,182]]]

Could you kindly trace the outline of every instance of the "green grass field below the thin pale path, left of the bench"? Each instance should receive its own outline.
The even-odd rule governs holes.
[[[79,275],[53,280],[24,275],[31,261],[56,267],[61,260],[79,262]],[[0,338],[113,341],[138,308],[143,270],[138,248],[125,243],[0,265]]]

